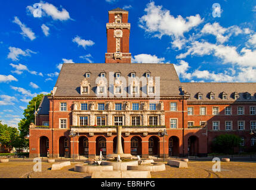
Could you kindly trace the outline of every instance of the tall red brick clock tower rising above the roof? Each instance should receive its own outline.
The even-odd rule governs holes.
[[[129,53],[129,30],[128,11],[115,8],[109,11],[109,23],[107,28],[107,53],[105,63],[131,63]]]

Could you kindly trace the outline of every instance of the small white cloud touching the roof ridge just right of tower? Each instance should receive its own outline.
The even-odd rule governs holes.
[[[135,55],[134,57],[131,58],[131,62],[133,63],[162,63],[165,61],[165,58],[158,58],[156,55],[150,55],[150,54],[139,54]]]

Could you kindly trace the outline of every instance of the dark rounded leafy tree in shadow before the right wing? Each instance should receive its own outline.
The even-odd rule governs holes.
[[[223,134],[219,135],[212,142],[212,150],[216,153],[233,154],[234,148],[239,147],[241,138],[238,135]]]

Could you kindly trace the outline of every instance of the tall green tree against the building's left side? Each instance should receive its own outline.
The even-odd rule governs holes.
[[[50,94],[47,94],[49,96]],[[20,147],[29,147],[29,141],[25,138],[29,135],[30,123],[35,123],[35,103],[36,109],[38,109],[44,94],[38,94],[29,101],[29,105],[24,109],[24,118],[18,123],[18,129],[20,130]]]

